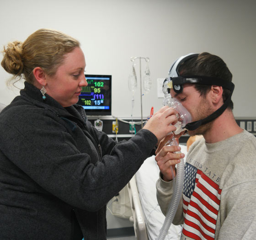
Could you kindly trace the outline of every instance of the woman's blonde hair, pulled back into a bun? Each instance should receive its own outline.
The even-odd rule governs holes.
[[[15,83],[24,76],[28,83],[35,81],[33,69],[41,67],[47,75],[53,76],[64,60],[64,55],[80,43],[68,35],[50,29],[39,29],[24,43],[14,41],[4,47],[1,66],[13,75],[8,83]]]

